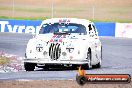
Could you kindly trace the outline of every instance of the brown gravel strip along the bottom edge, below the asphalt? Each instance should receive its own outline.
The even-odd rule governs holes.
[[[80,86],[74,80],[17,80],[0,81],[0,88],[132,88],[129,84],[85,84]]]

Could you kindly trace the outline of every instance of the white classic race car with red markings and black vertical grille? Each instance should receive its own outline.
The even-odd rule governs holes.
[[[102,45],[93,22],[77,18],[44,20],[39,34],[30,39],[24,67],[49,69],[55,66],[100,68]]]

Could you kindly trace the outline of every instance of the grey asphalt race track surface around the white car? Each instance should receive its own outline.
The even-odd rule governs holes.
[[[0,33],[0,51],[24,57],[26,44],[31,34]],[[87,70],[87,74],[130,74],[132,76],[132,39],[100,37],[103,45],[102,68]],[[77,70],[52,69],[35,71],[0,73],[0,80],[42,79],[63,80],[75,79]]]

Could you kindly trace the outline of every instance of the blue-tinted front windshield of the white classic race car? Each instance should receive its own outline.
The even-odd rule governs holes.
[[[80,35],[86,35],[86,27],[82,24],[75,23],[54,23],[54,24],[43,24],[39,34],[54,33],[54,34],[71,34],[78,33]]]

